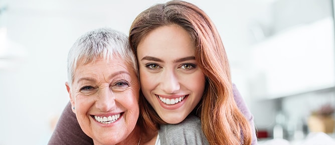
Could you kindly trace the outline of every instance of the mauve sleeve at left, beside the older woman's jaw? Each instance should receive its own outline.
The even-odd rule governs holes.
[[[48,144],[93,144],[92,138],[80,128],[70,102],[64,108]]]

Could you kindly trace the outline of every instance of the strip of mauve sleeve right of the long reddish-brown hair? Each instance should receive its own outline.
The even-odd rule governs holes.
[[[235,84],[233,84],[233,93],[234,93],[234,98],[235,102],[238,106],[238,108],[241,110],[241,112],[244,114],[244,116],[249,120],[250,126],[253,130],[252,133],[252,145],[257,144],[257,136],[256,136],[256,131],[255,131],[255,124],[254,124],[254,117],[251,114],[249,108],[247,107],[246,103],[244,102],[244,99],[242,98],[240,92],[238,91],[237,87]]]

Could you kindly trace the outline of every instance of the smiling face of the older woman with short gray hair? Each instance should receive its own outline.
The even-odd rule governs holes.
[[[95,144],[115,144],[134,129],[139,115],[139,83],[120,57],[78,65],[68,91],[78,122]]]

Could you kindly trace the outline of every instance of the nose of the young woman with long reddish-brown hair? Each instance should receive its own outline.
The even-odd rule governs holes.
[[[165,93],[175,93],[180,89],[179,79],[174,71],[163,71],[160,78],[161,89]]]

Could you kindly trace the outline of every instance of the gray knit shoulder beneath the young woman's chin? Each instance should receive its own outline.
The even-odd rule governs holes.
[[[198,116],[189,115],[178,124],[160,125],[160,144],[209,144]]]

